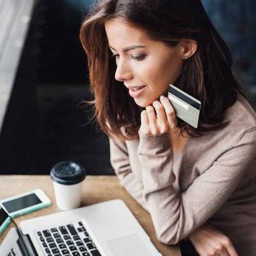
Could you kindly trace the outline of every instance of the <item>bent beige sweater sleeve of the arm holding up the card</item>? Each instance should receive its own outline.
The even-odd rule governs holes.
[[[163,243],[176,244],[211,218],[232,195],[255,159],[256,130],[244,132],[183,193],[173,188],[172,148],[166,141],[166,135],[141,137],[138,154],[144,197],[156,235]]]

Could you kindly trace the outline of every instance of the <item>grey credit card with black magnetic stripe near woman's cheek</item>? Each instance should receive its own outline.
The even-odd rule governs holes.
[[[168,99],[172,103],[176,116],[189,125],[197,128],[201,102],[183,90],[178,89],[173,84],[169,84]]]

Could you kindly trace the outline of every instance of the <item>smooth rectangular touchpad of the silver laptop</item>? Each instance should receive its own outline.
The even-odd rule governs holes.
[[[108,240],[107,244],[114,256],[151,255],[148,248],[143,244],[143,241],[136,234]]]

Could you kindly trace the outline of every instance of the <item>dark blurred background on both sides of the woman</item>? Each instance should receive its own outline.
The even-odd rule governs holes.
[[[255,101],[253,1],[202,1],[234,56],[234,72]],[[0,134],[0,173],[48,174],[74,160],[89,174],[113,174],[108,138],[92,117],[86,58],[79,27],[92,1],[36,4]]]

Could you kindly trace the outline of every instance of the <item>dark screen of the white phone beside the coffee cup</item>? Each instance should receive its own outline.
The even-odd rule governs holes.
[[[42,203],[42,201],[38,198],[36,194],[24,195],[22,197],[13,199],[11,201],[3,202],[3,207],[5,207],[6,211],[16,212],[26,207],[32,207],[34,205],[38,205]]]

